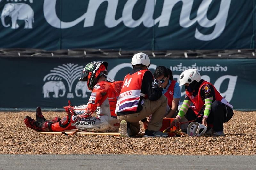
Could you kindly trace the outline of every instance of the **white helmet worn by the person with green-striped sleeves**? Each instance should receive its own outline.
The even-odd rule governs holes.
[[[188,69],[180,74],[180,86],[185,83],[192,83],[194,80],[199,82],[201,80],[201,75],[196,69]]]

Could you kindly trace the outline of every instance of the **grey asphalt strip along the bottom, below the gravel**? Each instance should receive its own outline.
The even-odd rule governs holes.
[[[256,155],[0,155],[0,169],[256,169]]]

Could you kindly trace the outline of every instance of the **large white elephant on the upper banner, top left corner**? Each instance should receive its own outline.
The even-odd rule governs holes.
[[[10,16],[12,20],[12,29],[19,28],[17,20],[24,20],[24,29],[32,29],[32,23],[34,23],[34,11],[33,9],[25,3],[7,3],[4,5],[1,21],[4,27],[9,27],[10,24],[5,23],[5,17]]]

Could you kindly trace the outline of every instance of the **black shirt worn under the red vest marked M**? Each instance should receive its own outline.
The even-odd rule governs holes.
[[[130,75],[143,70],[140,67],[134,67],[134,69],[129,73]],[[148,95],[148,99],[151,101],[158,100],[162,95],[163,88],[155,88],[154,80],[153,80],[153,74],[148,70],[144,73],[143,79],[142,79],[142,85],[141,85],[141,93]],[[137,113],[142,110],[141,101],[144,99],[143,96],[140,96],[140,102],[137,108],[136,112],[128,111],[128,112],[117,112],[117,115],[127,115],[132,113]]]

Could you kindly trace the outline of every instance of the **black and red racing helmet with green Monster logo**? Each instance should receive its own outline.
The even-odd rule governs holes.
[[[88,89],[92,90],[102,74],[108,75],[107,68],[107,62],[93,61],[84,67],[79,80],[87,81]]]

